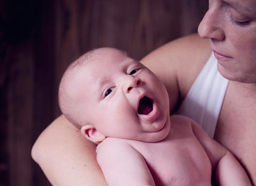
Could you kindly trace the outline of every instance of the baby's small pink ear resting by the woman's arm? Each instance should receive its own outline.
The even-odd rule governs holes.
[[[82,126],[81,132],[88,140],[91,140],[96,144],[99,144],[106,138],[106,136],[99,133],[99,131],[91,124]]]

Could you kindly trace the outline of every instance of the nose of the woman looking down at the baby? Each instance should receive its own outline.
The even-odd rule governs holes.
[[[221,13],[218,7],[210,7],[198,26],[198,34],[203,39],[216,39],[221,41],[225,38],[222,27]]]

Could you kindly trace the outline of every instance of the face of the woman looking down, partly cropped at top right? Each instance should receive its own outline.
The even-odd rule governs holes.
[[[256,0],[209,0],[198,33],[211,39],[223,77],[256,83]]]

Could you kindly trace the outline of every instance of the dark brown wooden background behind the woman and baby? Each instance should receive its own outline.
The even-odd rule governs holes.
[[[207,0],[0,0],[0,186],[48,186],[31,158],[39,134],[61,113],[68,64],[110,46],[140,60],[190,33]]]

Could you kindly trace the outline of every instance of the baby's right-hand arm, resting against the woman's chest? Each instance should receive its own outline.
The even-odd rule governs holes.
[[[221,186],[251,185],[245,170],[233,154],[217,141],[211,139],[196,122],[192,120],[191,124],[195,136],[212,163],[212,173],[217,184]]]

